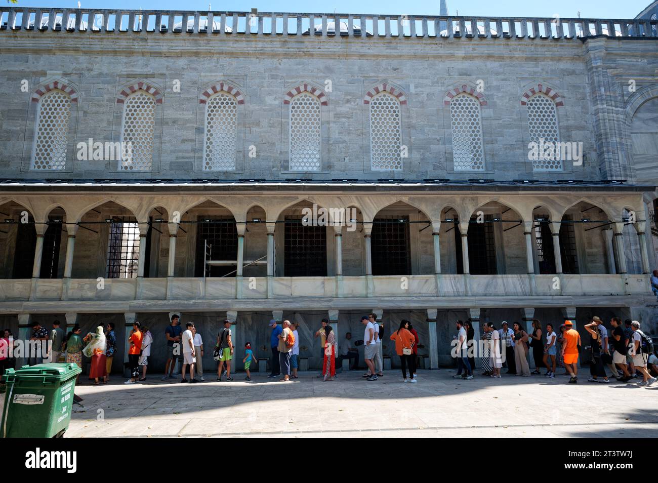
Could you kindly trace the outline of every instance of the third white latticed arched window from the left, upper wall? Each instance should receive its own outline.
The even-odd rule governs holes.
[[[238,136],[238,101],[219,92],[206,103],[204,171],[234,171]]]

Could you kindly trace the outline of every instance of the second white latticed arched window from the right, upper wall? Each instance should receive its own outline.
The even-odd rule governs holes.
[[[485,170],[478,99],[468,94],[453,97],[450,102],[450,118],[455,171]]]

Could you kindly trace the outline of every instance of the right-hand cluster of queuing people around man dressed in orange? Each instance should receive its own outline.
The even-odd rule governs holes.
[[[581,353],[586,353],[590,365],[588,382],[605,384],[610,382],[610,377],[616,378],[618,382],[628,382],[642,377],[638,385],[651,386],[658,376],[658,370],[655,370],[658,359],[653,353],[653,341],[640,330],[640,322],[637,320],[626,320],[624,328],[620,318],[613,317],[610,324],[613,328],[611,338],[601,318],[592,317],[584,326],[590,334],[590,344],[584,345],[571,320],[565,320],[556,333],[553,324],[546,324],[544,329],[540,320],[534,319],[530,334],[519,322],[514,322],[510,327],[508,322],[503,320],[499,330],[496,330],[491,322],[486,322],[483,325],[484,343],[481,353],[478,353],[479,346],[469,343],[473,340],[472,336],[469,338],[468,335],[470,324],[457,320],[457,335],[453,337],[457,373],[453,378],[473,378],[472,361],[476,354],[482,359],[482,375],[499,378],[503,366],[501,355],[504,354],[507,374],[524,377],[540,375],[540,369],[544,367],[544,376],[555,378],[557,367],[562,367],[565,369],[564,375],[569,376],[569,383],[577,384],[578,360]],[[532,372],[528,365],[530,349],[535,366]],[[611,369],[610,377],[606,367]]]

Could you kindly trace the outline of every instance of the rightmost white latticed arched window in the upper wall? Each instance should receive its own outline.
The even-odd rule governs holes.
[[[536,94],[528,99],[528,129],[530,142],[558,143],[557,111],[553,99],[544,94]],[[556,151],[556,154],[559,150]],[[535,171],[555,171],[562,169],[559,155],[556,159],[536,159],[532,162]]]

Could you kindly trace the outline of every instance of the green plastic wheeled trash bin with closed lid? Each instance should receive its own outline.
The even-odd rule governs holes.
[[[71,420],[76,364],[38,364],[7,369],[2,438],[62,436]]]

